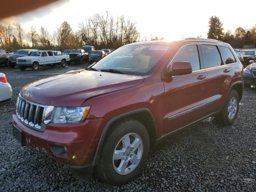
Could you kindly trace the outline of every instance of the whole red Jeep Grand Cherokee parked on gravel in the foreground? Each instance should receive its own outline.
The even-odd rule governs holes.
[[[243,66],[229,44],[188,38],[122,46],[85,70],[22,88],[14,137],[67,164],[72,174],[113,185],[142,171],[150,146],[209,116],[230,125]]]

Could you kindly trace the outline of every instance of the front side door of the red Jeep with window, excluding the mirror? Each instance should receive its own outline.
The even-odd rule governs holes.
[[[176,61],[190,62],[193,72],[164,80],[164,135],[206,115],[207,73],[203,68],[199,50],[198,44],[185,45],[170,63],[171,68],[172,63]]]

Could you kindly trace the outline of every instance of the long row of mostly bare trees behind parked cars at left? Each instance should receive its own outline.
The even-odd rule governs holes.
[[[118,48],[124,44],[138,42],[140,33],[136,22],[125,19],[124,16],[114,18],[112,15],[94,14],[92,17],[78,23],[78,30],[74,32],[64,21],[53,33],[41,26],[36,30],[31,26],[28,32],[19,22],[0,25],[0,48],[18,50],[35,49],[79,49],[82,45],[92,45],[96,49]],[[146,38],[145,38],[146,39]]]

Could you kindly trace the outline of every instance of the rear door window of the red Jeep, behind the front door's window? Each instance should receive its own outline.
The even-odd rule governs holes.
[[[204,57],[204,68],[221,65],[220,53],[215,45],[201,45]]]

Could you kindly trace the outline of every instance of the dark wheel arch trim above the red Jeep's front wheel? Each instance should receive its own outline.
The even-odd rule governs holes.
[[[114,122],[116,122],[117,120],[120,120],[123,118],[133,118],[134,120],[137,120],[140,123],[142,123],[145,126],[146,130],[148,131],[148,134],[150,137],[150,144],[152,144],[152,145],[155,144],[156,138],[157,138],[157,128],[156,128],[156,122],[154,120],[154,116],[153,116],[152,112],[148,108],[141,108],[141,109],[136,109],[136,110],[132,110],[129,112],[125,112],[123,114],[120,114],[118,116],[111,118],[110,120],[108,120],[107,124],[105,125],[105,127],[102,131],[102,134],[100,136],[100,140],[98,142],[96,153],[94,155],[94,159],[93,159],[93,163],[92,163],[93,166],[96,166],[98,164],[102,146],[104,144],[106,135],[107,135],[108,131],[110,130],[111,125]]]

